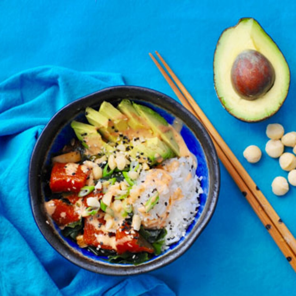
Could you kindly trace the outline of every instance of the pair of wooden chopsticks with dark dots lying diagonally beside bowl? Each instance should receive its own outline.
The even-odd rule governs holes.
[[[212,138],[219,159],[232,176],[243,196],[245,196],[273,240],[278,245],[278,248],[282,251],[283,255],[296,272],[296,240],[292,233],[288,230],[282,219],[280,219],[266,197],[259,190],[258,186],[250,177],[248,172],[238,161],[237,157],[233,154],[212,123],[208,120],[207,116],[196,104],[195,100],[186,90],[181,81],[177,78],[161,55],[157,51],[155,53],[164,65],[164,68],[158,60],[149,53],[151,59],[156,64],[157,68],[160,70],[161,74],[171,86],[171,89],[175,92],[184,107],[195,115],[206,128]]]

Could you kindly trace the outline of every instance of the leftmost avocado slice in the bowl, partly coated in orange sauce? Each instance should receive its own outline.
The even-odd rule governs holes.
[[[87,154],[95,155],[101,152],[108,154],[114,151],[114,148],[102,139],[95,126],[73,120],[71,127],[78,140],[88,150]]]

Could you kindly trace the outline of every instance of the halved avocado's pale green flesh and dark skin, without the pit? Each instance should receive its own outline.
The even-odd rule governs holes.
[[[273,86],[255,100],[246,100],[232,85],[232,65],[245,50],[256,50],[272,64]],[[256,122],[269,118],[283,105],[290,85],[290,70],[286,59],[272,38],[253,18],[242,18],[236,26],[224,30],[214,55],[214,83],[223,107],[236,118]]]

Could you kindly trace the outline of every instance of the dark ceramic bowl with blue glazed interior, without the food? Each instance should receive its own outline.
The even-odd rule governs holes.
[[[106,100],[116,104],[123,98],[130,98],[147,105],[161,114],[169,123],[175,118],[183,121],[181,130],[189,150],[198,160],[197,174],[203,176],[200,207],[185,237],[170,246],[164,253],[140,265],[109,263],[102,257],[81,249],[75,242],[63,237],[59,227],[51,220],[44,209],[48,196],[48,172],[51,155],[58,152],[74,137],[70,122],[82,120],[87,106],[99,108]],[[65,258],[78,266],[97,273],[129,275],[148,272],[171,263],[181,256],[196,240],[211,219],[219,194],[220,171],[217,154],[205,128],[175,100],[155,90],[133,86],[117,86],[103,89],[82,99],[76,100],[57,112],[43,129],[33,150],[29,169],[29,190],[35,221],[47,241]]]

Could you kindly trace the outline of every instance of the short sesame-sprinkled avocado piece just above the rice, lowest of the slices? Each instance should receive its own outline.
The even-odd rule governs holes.
[[[174,157],[175,153],[165,142],[153,137],[146,139],[145,142],[134,143],[130,156],[139,162],[145,162],[145,158],[148,158],[150,165],[153,165]]]

